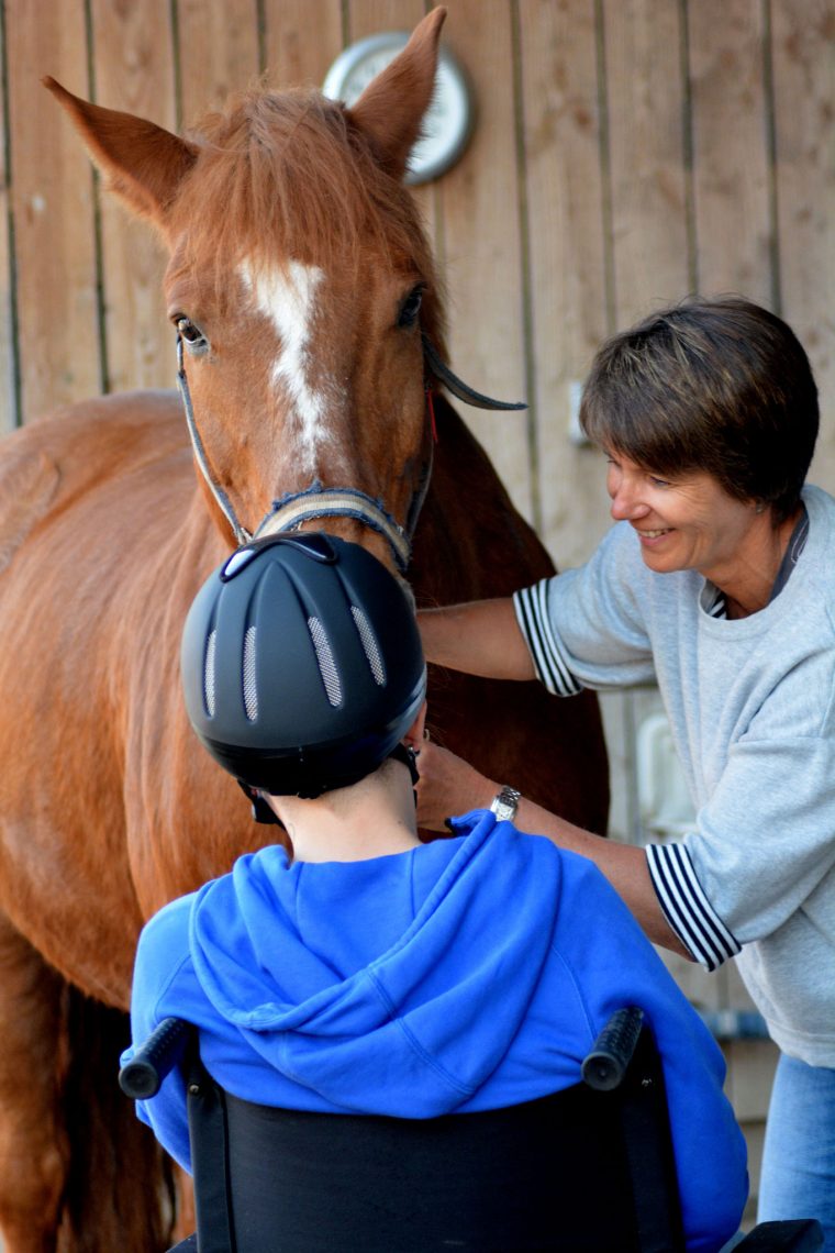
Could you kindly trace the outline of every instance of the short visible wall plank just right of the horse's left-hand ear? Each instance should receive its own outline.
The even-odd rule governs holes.
[[[258,75],[257,0],[178,0],[177,31],[180,101],[188,125]]]

